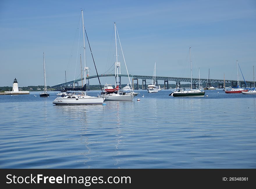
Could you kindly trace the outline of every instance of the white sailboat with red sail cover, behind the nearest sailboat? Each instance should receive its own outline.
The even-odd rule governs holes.
[[[105,101],[116,101],[116,100],[127,100],[127,101],[131,101],[135,94],[134,94],[134,91],[133,89],[131,89],[132,91],[129,92],[129,93],[126,93],[126,92],[120,92],[120,88],[119,88],[119,81],[118,81],[118,67],[119,67],[119,64],[118,64],[118,59],[117,59],[117,38],[116,38],[116,34],[118,35],[118,31],[116,29],[116,24],[114,22],[114,27],[115,27],[115,53],[116,53],[116,67],[117,67],[117,86],[115,86],[115,91],[111,91],[111,92],[105,92],[102,93],[100,96],[101,97],[104,97],[105,98]],[[122,46],[121,46],[121,42],[120,42],[120,39],[119,39],[119,35],[118,35],[118,40],[119,40],[119,43],[120,43],[120,47],[121,47],[121,50],[122,50]],[[124,63],[125,63],[125,57],[124,57],[124,54],[123,54],[123,50],[122,50],[122,55],[123,55],[123,58],[124,58]],[[126,66],[126,63],[125,63],[125,67],[126,67],[126,71],[127,71],[127,75],[128,75],[128,78],[129,78],[129,82],[130,82],[130,85],[131,85],[131,80],[130,80],[130,77],[129,77],[129,73],[128,73],[128,70],[127,70],[127,66]]]

